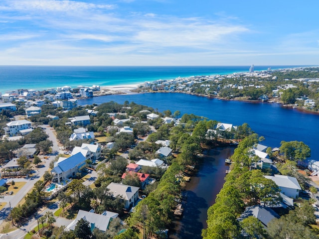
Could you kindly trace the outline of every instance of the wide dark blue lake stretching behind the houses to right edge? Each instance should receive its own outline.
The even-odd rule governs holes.
[[[300,112],[275,103],[224,101],[181,93],[110,95],[79,100],[79,104],[101,104],[109,101],[119,104],[125,101],[135,102],[160,112],[178,110],[181,115],[194,114],[234,125],[246,122],[256,133],[266,138],[262,144],[279,147],[282,140],[303,141],[311,147],[311,158],[319,159],[319,114]]]

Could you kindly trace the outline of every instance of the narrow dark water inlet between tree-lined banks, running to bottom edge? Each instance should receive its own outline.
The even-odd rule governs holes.
[[[215,203],[216,195],[225,182],[225,158],[234,153],[234,147],[221,147],[205,152],[197,173],[186,183],[183,216],[173,223],[171,239],[201,239],[201,230],[207,227],[207,209]]]

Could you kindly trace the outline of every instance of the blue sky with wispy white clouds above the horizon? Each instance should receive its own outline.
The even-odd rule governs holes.
[[[319,65],[318,0],[0,0],[0,65]]]

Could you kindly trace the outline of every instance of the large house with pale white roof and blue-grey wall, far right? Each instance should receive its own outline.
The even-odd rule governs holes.
[[[295,177],[279,174],[275,174],[274,176],[265,175],[264,177],[273,180],[278,185],[282,194],[291,198],[299,197],[301,187]]]

